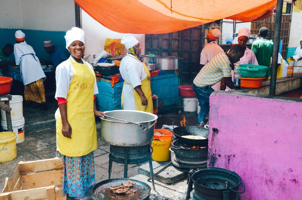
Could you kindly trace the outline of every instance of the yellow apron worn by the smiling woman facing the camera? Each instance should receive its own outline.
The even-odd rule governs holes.
[[[73,78],[67,95],[67,120],[71,126],[71,139],[62,134],[60,112],[56,117],[57,148],[65,156],[83,156],[97,148],[96,121],[93,112],[95,74],[85,62],[69,59]]]

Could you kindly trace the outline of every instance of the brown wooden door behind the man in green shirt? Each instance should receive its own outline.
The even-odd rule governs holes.
[[[259,33],[261,27],[268,28],[268,40],[274,40],[274,30],[275,30],[275,18],[276,15],[272,15],[261,21],[251,22],[251,34]],[[263,23],[264,22],[264,23]],[[280,30],[280,40],[282,40],[281,55],[283,58],[286,56],[286,49],[289,42],[289,30],[291,22],[291,14],[283,14],[281,18],[281,30]]]

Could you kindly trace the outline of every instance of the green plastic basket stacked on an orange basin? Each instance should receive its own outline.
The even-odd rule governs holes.
[[[268,67],[261,65],[240,65],[241,77],[243,78],[263,78],[266,75]]]

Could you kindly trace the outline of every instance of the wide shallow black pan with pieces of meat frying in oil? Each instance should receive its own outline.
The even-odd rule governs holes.
[[[119,200],[144,200],[149,199],[151,188],[147,183],[144,183],[139,180],[130,179],[136,184],[131,188],[134,189],[136,192],[129,194],[129,195],[117,195],[113,194],[110,191],[110,187],[115,187],[122,185],[121,182],[128,183],[128,179],[126,178],[117,178],[117,179],[107,179],[102,182],[97,183],[95,186],[93,186],[92,194],[93,197],[98,200],[113,200],[113,199],[119,199]]]

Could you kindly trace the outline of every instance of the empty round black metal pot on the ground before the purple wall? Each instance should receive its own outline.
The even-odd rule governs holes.
[[[237,194],[245,192],[240,176],[227,169],[216,167],[198,169],[189,176],[193,181],[195,192],[204,199],[230,200]],[[243,186],[241,192],[238,191],[239,185]]]

